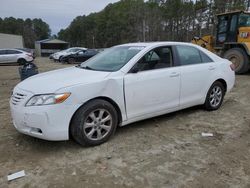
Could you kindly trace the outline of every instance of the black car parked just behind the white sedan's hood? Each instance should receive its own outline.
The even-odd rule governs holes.
[[[61,58],[61,62],[63,63],[76,63],[76,62],[84,62],[87,59],[95,56],[98,53],[95,49],[86,49],[86,50],[80,50],[76,53],[72,53],[69,55],[64,55]]]

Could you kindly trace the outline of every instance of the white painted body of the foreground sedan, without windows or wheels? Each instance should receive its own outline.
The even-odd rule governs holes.
[[[175,45],[197,48],[214,62],[129,73],[151,49]],[[74,113],[87,101],[97,97],[107,97],[117,104],[122,116],[120,126],[123,126],[203,104],[209,87],[218,79],[226,82],[227,92],[234,85],[235,75],[230,68],[231,62],[199,46],[177,42],[132,43],[122,46],[144,48],[118,71],[71,67],[38,74],[19,83],[10,99],[15,128],[21,133],[41,139],[67,140]],[[64,92],[70,92],[71,95],[63,103],[25,106],[34,95]]]

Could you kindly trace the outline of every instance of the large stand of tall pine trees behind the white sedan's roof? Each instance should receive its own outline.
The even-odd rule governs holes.
[[[249,0],[121,0],[78,16],[58,33],[72,46],[105,48],[142,41],[190,41],[211,34],[216,14],[246,10]]]

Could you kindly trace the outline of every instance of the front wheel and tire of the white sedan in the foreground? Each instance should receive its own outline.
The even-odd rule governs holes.
[[[82,106],[74,115],[70,134],[83,146],[96,146],[106,142],[116,130],[117,111],[105,100],[96,99]]]

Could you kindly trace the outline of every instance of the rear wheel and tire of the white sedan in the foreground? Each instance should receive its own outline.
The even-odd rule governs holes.
[[[207,92],[204,108],[208,111],[219,109],[223,102],[225,92],[225,87],[221,82],[214,82]]]

